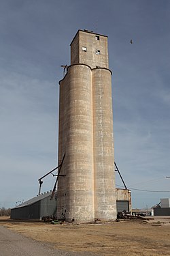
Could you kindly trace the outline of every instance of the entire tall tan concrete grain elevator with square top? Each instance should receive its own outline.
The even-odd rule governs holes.
[[[116,219],[111,75],[107,36],[79,30],[59,82],[59,219]]]

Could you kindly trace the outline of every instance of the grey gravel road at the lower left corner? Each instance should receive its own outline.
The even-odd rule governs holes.
[[[57,239],[57,238],[56,238]],[[69,248],[68,248],[69,250]],[[95,256],[92,253],[73,253],[25,238],[19,233],[0,226],[0,256]]]

